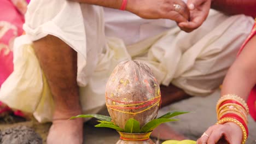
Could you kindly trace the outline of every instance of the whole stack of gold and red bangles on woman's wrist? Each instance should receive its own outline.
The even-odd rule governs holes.
[[[248,113],[249,108],[242,98],[234,94],[227,94],[221,97],[216,106],[218,122],[216,124],[224,124],[226,122],[236,123],[243,132],[242,144],[246,143],[248,137]]]

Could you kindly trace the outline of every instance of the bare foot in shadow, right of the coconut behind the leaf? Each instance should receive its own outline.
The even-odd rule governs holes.
[[[155,128],[152,131],[151,134],[152,137],[155,137],[156,139],[159,140],[186,140],[187,137],[185,137],[182,134],[177,133],[171,127],[167,124],[160,124],[157,128]]]

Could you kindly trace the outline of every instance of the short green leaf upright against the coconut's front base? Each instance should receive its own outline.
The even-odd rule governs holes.
[[[139,133],[139,122],[130,118],[125,124],[125,133]]]

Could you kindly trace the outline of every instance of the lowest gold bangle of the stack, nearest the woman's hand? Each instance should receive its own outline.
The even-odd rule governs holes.
[[[233,122],[233,123],[237,124],[241,128],[242,133],[243,133],[242,144],[245,144],[246,140],[247,140],[247,133],[246,133],[245,126],[243,126],[243,124],[240,123],[239,121],[237,121],[235,118],[230,118],[230,117],[226,117],[226,118],[220,119],[216,124],[224,124],[226,122]]]

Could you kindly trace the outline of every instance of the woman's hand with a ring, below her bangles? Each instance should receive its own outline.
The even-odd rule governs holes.
[[[205,133],[197,140],[197,144],[241,144],[242,142],[242,130],[236,124],[232,122],[213,125],[208,128]]]

